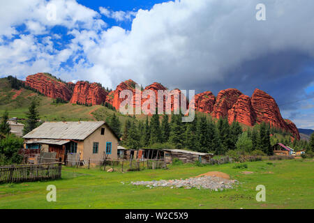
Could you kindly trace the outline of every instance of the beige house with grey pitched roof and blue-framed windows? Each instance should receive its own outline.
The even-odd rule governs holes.
[[[57,159],[79,155],[80,160],[117,159],[118,137],[104,121],[43,123],[24,135],[24,148],[57,153]]]

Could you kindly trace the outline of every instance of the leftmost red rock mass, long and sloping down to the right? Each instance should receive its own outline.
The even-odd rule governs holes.
[[[72,91],[67,84],[60,82],[55,77],[46,73],[38,73],[36,75],[29,75],[26,78],[25,85],[36,89],[43,95],[50,98],[62,98],[63,100],[70,100]]]

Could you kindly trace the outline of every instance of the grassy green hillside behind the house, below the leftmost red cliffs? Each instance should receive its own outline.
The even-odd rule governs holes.
[[[38,112],[43,121],[105,121],[114,113],[122,123],[127,119],[134,120],[130,116],[124,116],[101,105],[87,107],[70,103],[56,104],[52,98],[39,95],[31,90],[12,89],[8,79],[0,79],[0,114],[8,109],[10,117],[25,118],[31,100],[38,102]],[[138,118],[144,119],[144,116]]]

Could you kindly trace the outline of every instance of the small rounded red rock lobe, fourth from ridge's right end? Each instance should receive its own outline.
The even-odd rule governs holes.
[[[211,91],[205,91],[195,95],[195,109],[198,112],[210,114],[214,110],[215,95]]]

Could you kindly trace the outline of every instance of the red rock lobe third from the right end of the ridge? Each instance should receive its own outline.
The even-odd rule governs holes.
[[[235,102],[237,102],[239,95],[242,93],[237,89],[226,89],[220,91],[216,98],[214,110],[211,116],[214,118],[225,118],[229,109],[232,108]]]

